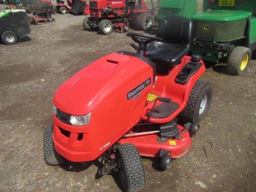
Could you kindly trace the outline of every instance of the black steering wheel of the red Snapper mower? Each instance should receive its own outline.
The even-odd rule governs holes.
[[[153,36],[149,34],[141,34],[141,33],[127,33],[127,36],[130,36],[134,42],[141,44],[143,43],[144,45],[149,44],[153,41],[162,41],[163,39],[158,37],[158,36]]]

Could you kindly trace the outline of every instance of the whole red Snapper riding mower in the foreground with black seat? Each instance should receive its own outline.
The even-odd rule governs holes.
[[[98,173],[118,171],[124,190],[136,192],[145,185],[140,156],[159,157],[165,170],[186,154],[212,98],[211,84],[199,79],[203,61],[186,56],[191,34],[190,19],[166,17],[157,36],[127,34],[137,53],[107,55],[62,84],[44,134],[46,163],[101,157]]]

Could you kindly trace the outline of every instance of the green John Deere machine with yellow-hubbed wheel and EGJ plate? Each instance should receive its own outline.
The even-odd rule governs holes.
[[[256,50],[256,0],[204,0],[203,11],[192,16],[192,54],[243,74]]]

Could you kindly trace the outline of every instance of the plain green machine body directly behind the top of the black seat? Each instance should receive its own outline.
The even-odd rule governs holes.
[[[158,23],[166,16],[179,15],[191,18],[197,12],[197,0],[160,0]]]

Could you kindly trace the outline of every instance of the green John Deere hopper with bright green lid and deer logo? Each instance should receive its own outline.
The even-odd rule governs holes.
[[[205,37],[217,42],[230,42],[244,38],[245,26],[251,12],[217,10],[192,17],[193,38]]]

